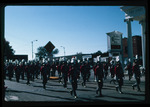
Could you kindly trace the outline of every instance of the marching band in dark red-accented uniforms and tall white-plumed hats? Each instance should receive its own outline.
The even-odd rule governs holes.
[[[109,69],[109,70],[108,70]],[[71,95],[74,95],[77,98],[76,90],[78,88],[78,80],[82,77],[82,86],[86,87],[86,82],[89,81],[91,72],[94,71],[94,79],[97,82],[98,88],[96,94],[102,96],[102,87],[103,81],[107,79],[108,72],[110,71],[111,82],[116,84],[116,91],[120,94],[122,92],[122,85],[124,80],[124,70],[128,70],[129,81],[131,80],[133,74],[136,79],[136,83],[132,85],[134,89],[137,87],[138,91],[140,90],[140,77],[141,71],[139,68],[138,60],[135,60],[131,64],[130,60],[126,68],[123,68],[120,61],[110,61],[110,62],[101,62],[100,60],[97,63],[92,63],[89,60],[78,61],[73,58],[72,61],[6,61],[4,64],[4,78],[6,76],[9,80],[12,80],[12,77],[16,78],[16,81],[19,82],[20,78],[22,80],[27,80],[27,85],[30,84],[30,81],[34,79],[43,80],[43,88],[46,88],[46,83],[50,77],[55,77],[56,72],[59,76],[59,82],[63,84],[64,88],[67,88],[67,82],[70,81],[72,90],[70,91]],[[39,78],[40,77],[40,78]]]

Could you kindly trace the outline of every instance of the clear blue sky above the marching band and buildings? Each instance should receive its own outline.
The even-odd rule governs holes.
[[[7,6],[5,38],[15,54],[32,59],[37,48],[51,41],[59,50],[55,56],[107,51],[106,33],[114,30],[127,37],[125,13],[120,6]],[[141,35],[138,21],[132,23],[132,35]],[[35,55],[34,55],[35,57]]]

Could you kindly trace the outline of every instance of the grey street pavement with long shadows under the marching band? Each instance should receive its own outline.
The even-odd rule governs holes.
[[[48,80],[46,89],[43,89],[41,79],[35,79],[30,81],[30,85],[27,85],[25,80],[20,79],[17,83],[15,78],[11,81],[8,78],[5,79],[5,85],[8,87],[6,90],[5,101],[6,102],[144,102],[145,101],[145,76],[141,77],[141,92],[137,89],[132,89],[132,85],[135,83],[134,77],[131,81],[128,80],[128,76],[125,76],[124,85],[122,87],[123,94],[116,91],[115,84],[110,84],[110,76],[104,80],[102,88],[102,97],[96,94],[97,83],[94,81],[94,74],[91,72],[91,77],[86,83],[86,87],[81,85],[82,78],[78,81],[77,98],[75,99],[70,94],[71,84],[67,83],[67,88],[63,87],[62,83],[58,80]]]

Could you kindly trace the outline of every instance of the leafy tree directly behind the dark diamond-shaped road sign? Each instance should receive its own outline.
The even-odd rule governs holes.
[[[55,54],[58,54],[59,50],[56,48],[54,49],[51,53],[49,53],[44,46],[40,46],[39,48],[37,48],[37,53],[36,56],[41,58],[45,58],[46,56],[52,55],[54,56]]]

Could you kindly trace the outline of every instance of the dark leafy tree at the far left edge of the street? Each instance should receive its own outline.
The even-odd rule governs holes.
[[[6,57],[7,59],[12,59],[14,53],[15,50],[12,49],[12,46],[9,45],[9,41],[6,41],[4,39],[4,57]]]

